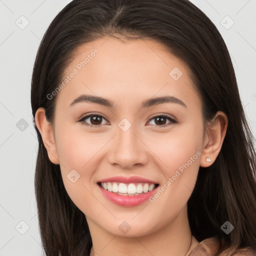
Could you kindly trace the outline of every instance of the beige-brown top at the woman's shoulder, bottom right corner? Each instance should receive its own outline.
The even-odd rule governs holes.
[[[214,237],[209,237],[199,242],[188,256],[256,256],[256,250],[249,247],[237,248],[231,246],[217,254],[220,241]]]

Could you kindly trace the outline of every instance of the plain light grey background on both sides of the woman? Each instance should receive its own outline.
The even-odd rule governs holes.
[[[191,1],[215,23],[227,44],[255,137],[256,0]],[[33,184],[38,144],[30,81],[40,40],[68,2],[0,0],[0,256],[42,255]],[[25,19],[29,24],[21,29]],[[21,118],[28,125],[23,130]]]

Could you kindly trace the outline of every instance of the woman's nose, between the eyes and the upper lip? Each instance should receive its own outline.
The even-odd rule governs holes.
[[[149,150],[139,134],[134,132],[132,126],[126,131],[118,127],[117,134],[110,144],[108,162],[123,169],[137,168],[146,164]]]

